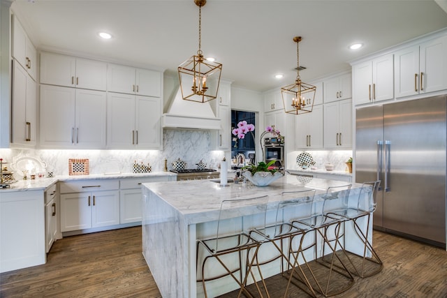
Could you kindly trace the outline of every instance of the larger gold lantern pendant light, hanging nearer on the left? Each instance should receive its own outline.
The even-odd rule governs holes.
[[[194,0],[198,6],[198,51],[197,54],[184,61],[178,67],[182,98],[198,103],[206,103],[217,98],[221,80],[222,64],[204,59],[200,50],[202,6],[206,0]]]

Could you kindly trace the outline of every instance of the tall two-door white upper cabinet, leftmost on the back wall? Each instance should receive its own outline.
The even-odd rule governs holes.
[[[105,113],[103,91],[41,85],[41,147],[105,148]]]

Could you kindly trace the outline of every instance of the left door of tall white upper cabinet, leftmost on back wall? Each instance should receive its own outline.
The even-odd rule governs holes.
[[[75,89],[41,85],[40,145],[71,148],[75,144]]]

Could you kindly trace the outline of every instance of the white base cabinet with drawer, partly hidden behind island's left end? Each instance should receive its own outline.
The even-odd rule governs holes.
[[[119,181],[119,223],[138,223],[142,220],[141,184],[156,181],[175,181],[174,176],[126,178]]]

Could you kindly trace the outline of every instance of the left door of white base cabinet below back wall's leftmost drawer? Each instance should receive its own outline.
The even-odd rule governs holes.
[[[61,195],[61,232],[91,228],[90,193]]]

